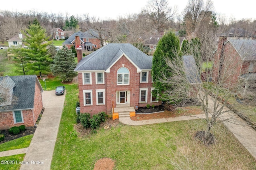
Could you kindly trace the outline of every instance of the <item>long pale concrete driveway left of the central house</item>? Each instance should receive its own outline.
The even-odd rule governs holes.
[[[34,133],[20,170],[50,170],[65,95],[42,93],[44,113]]]

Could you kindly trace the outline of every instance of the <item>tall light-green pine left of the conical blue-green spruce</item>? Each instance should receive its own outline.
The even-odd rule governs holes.
[[[34,70],[38,75],[48,74],[50,71],[50,63],[52,58],[49,57],[46,47],[51,42],[46,42],[49,37],[46,37],[46,30],[41,28],[38,24],[31,24],[26,32],[22,32],[25,35],[24,44],[28,46],[26,54],[30,63],[28,68]]]

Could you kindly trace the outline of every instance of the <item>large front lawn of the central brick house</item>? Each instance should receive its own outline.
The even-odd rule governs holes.
[[[214,127],[216,144],[194,139],[204,120],[146,126],[119,124],[78,137],[75,105],[77,85],[67,86],[64,110],[51,169],[93,169],[100,158],[111,158],[115,169],[255,169],[256,161],[221,123]]]

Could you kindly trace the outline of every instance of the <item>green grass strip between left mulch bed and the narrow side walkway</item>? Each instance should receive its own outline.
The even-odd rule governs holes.
[[[26,148],[30,145],[32,137],[33,137],[33,134],[29,134],[27,136],[14,139],[9,142],[4,142],[0,144],[0,152],[6,151],[6,150]]]

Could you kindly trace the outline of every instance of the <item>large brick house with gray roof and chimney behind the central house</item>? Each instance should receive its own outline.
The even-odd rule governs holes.
[[[78,31],[70,36],[62,45],[66,45],[68,49],[74,46],[75,48],[82,47],[85,51],[94,51],[100,48],[100,37],[97,31],[93,29],[89,29],[86,32]]]

